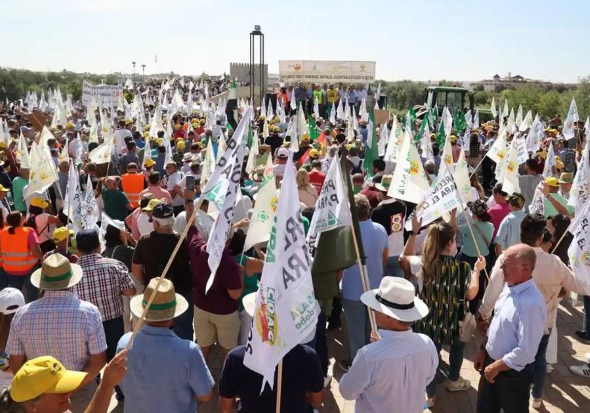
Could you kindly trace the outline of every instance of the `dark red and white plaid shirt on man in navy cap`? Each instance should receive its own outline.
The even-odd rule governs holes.
[[[121,261],[103,258],[100,254],[80,257],[77,264],[82,267],[82,280],[72,291],[82,300],[99,307],[103,321],[123,315],[121,294],[134,286],[129,269]]]

